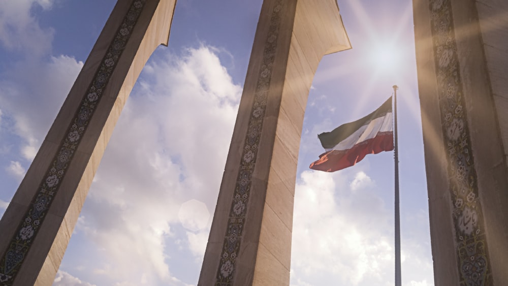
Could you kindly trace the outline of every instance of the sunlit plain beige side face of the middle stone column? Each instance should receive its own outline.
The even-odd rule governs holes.
[[[254,285],[273,281],[289,285],[296,169],[309,89],[323,55],[348,48],[335,1],[298,1],[275,128]]]

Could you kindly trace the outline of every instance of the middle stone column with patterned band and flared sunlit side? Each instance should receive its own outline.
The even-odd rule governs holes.
[[[351,48],[335,0],[265,0],[199,285],[289,285],[303,115],[323,55]]]

